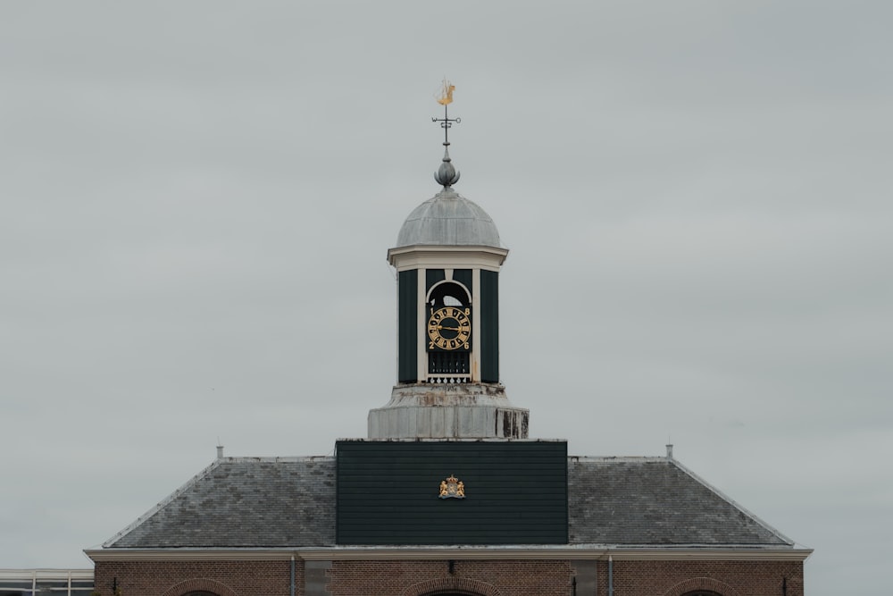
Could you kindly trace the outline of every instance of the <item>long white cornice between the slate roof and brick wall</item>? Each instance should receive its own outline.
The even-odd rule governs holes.
[[[101,549],[85,550],[100,561],[286,561],[295,557],[307,561],[380,560],[531,560],[596,559],[615,561],[803,561],[812,549],[715,547],[611,547],[605,545],[524,547],[332,547],[321,549]]]

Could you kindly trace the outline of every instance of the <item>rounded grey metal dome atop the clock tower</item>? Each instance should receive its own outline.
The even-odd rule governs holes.
[[[502,248],[497,224],[486,211],[445,188],[409,214],[396,237],[396,248],[413,245]]]

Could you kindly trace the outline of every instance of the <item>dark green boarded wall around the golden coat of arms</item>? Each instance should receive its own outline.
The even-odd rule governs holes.
[[[338,544],[566,544],[564,441],[338,441]],[[451,474],[465,499],[440,499]]]

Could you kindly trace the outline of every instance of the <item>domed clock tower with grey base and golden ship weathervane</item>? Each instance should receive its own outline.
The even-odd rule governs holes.
[[[497,226],[458,194],[449,156],[434,174],[443,189],[417,206],[388,250],[397,278],[396,381],[390,402],[369,413],[375,439],[526,439],[529,414],[499,382],[499,269],[508,249]]]

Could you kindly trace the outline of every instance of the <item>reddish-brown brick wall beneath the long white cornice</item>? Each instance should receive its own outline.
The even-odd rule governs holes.
[[[324,589],[305,591],[305,564],[296,561],[296,596],[595,596],[608,593],[608,563],[595,564],[597,592],[579,583],[591,561],[393,560],[333,561]],[[96,590],[113,596],[288,596],[290,562],[99,561]],[[613,561],[614,596],[683,596],[705,590],[721,596],[804,596],[802,561]]]

